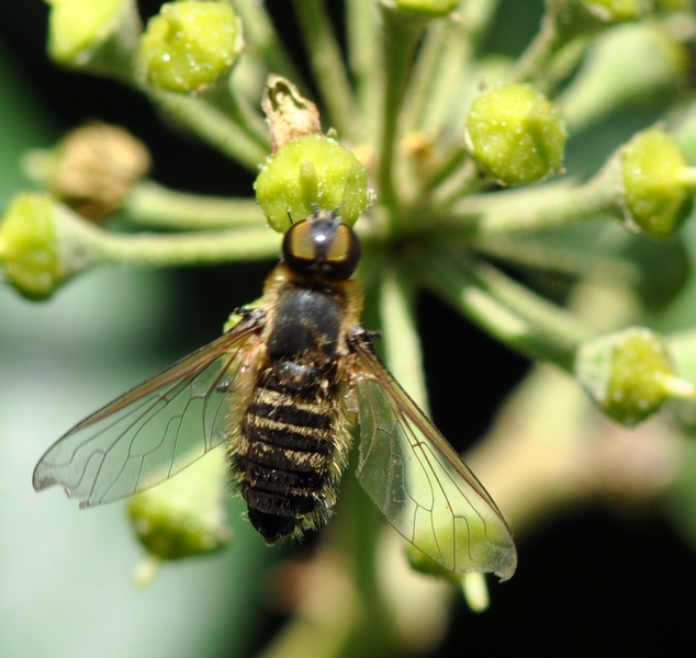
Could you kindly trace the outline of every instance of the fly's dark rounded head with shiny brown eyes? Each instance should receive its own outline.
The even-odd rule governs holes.
[[[285,264],[296,274],[350,279],[360,252],[352,228],[326,214],[293,224],[283,238]]]

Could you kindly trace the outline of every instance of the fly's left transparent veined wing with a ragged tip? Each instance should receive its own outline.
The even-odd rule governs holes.
[[[103,504],[165,481],[225,441],[258,328],[243,320],[75,426],[40,460],[34,488],[60,485],[80,507]]]

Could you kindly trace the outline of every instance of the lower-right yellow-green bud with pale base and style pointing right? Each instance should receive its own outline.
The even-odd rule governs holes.
[[[575,376],[614,420],[632,427],[675,394],[675,377],[662,339],[631,327],[583,344]]]

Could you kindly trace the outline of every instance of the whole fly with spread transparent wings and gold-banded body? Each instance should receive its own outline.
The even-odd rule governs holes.
[[[495,502],[360,326],[352,228],[315,208],[282,253],[258,307],[75,426],[40,460],[34,488],[103,504],[225,444],[248,519],[272,544],[328,520],[357,427],[357,477],[408,542],[456,574],[509,578],[517,555]]]

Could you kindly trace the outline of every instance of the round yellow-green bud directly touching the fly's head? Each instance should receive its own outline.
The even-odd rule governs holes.
[[[369,202],[368,175],[345,147],[324,135],[298,137],[278,149],[263,164],[254,184],[268,223],[284,232],[293,222],[340,208],[352,225]]]

